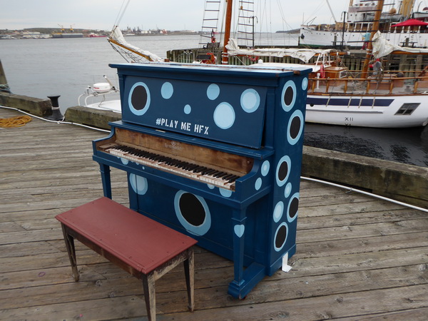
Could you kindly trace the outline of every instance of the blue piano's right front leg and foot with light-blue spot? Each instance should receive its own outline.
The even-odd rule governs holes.
[[[265,266],[251,263],[244,270],[245,209],[233,211],[233,263],[235,279],[230,282],[228,294],[243,299],[265,277]]]

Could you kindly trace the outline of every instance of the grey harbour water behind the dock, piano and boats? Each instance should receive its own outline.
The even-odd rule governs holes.
[[[165,57],[171,49],[198,47],[197,35],[132,36],[127,41]],[[258,41],[256,39],[256,41]],[[295,45],[295,34],[263,34],[261,44]],[[124,63],[106,38],[1,40],[0,59],[11,91],[46,98],[61,95],[61,111],[78,104],[93,83],[117,86],[109,63]],[[428,128],[377,129],[307,124],[305,145],[428,167]]]

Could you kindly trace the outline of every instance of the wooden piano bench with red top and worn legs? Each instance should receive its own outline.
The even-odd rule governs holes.
[[[110,198],[100,198],[56,215],[61,222],[74,280],[79,275],[74,239],[143,281],[149,320],[156,319],[155,281],[184,263],[188,307],[193,311],[196,240],[136,213]]]

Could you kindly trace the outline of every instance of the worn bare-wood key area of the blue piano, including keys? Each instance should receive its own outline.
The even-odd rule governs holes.
[[[220,188],[235,190],[235,180],[250,172],[253,158],[116,128],[96,144],[98,151]]]

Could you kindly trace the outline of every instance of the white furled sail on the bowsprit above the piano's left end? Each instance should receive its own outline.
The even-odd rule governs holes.
[[[137,46],[129,44],[125,37],[123,37],[121,29],[118,26],[115,26],[111,31],[108,41],[113,46],[113,48],[119,52],[124,58],[128,57],[129,62],[140,62],[141,58],[146,58],[148,61],[163,62],[165,59],[152,54],[150,51],[143,50]],[[116,45],[116,47],[114,46]],[[120,50],[120,51],[119,51]],[[126,59],[128,61],[128,59]]]

